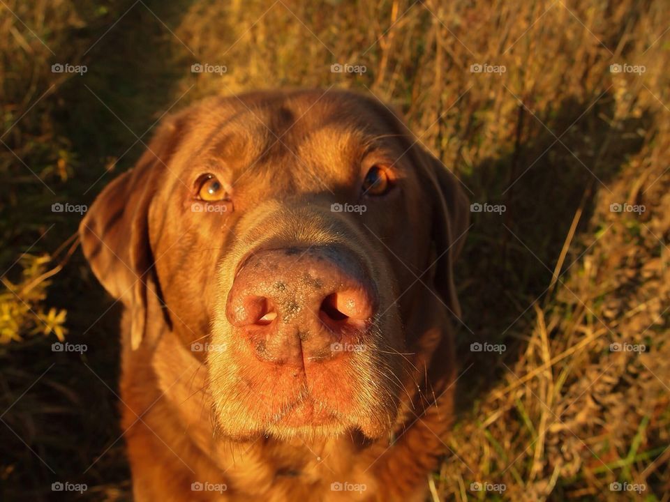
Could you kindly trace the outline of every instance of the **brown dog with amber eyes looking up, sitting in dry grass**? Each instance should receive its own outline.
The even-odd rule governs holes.
[[[422,500],[452,413],[459,184],[385,105],[214,98],[96,199],[137,501]]]

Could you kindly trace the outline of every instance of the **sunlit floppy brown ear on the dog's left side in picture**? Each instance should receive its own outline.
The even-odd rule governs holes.
[[[182,112],[161,124],[137,165],[105,187],[79,226],[82,250],[93,273],[131,311],[133,349],[144,335],[147,289],[156,286],[149,206],[177,149],[184,122]]]

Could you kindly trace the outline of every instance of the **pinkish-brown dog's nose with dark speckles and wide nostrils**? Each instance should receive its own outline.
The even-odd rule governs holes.
[[[285,248],[244,260],[226,316],[260,359],[303,365],[355,350],[377,309],[374,284],[352,252]]]

